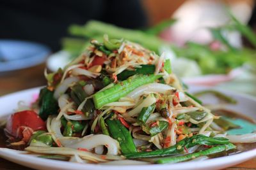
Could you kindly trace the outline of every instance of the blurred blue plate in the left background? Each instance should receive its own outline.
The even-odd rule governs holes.
[[[36,66],[43,63],[50,53],[47,46],[39,43],[0,40],[0,73]]]

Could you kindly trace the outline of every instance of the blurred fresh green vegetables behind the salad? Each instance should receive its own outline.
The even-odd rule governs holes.
[[[231,14],[230,14],[231,15]],[[93,38],[97,40],[102,40],[104,34],[108,34],[111,38],[125,38],[137,43],[141,43],[143,46],[159,53],[161,48],[168,48],[175,55],[179,57],[185,57],[190,60],[195,60],[202,74],[222,74],[228,73],[230,70],[242,66],[244,63],[256,66],[256,59],[254,56],[254,50],[250,48],[237,49],[230,45],[227,38],[223,35],[225,31],[239,31],[241,34],[248,39],[252,45],[256,43],[256,36],[252,29],[247,25],[241,24],[234,16],[231,15],[230,24],[224,25],[219,28],[209,28],[212,32],[212,37],[214,41],[212,43],[219,43],[220,46],[226,48],[212,49],[211,43],[209,45],[200,45],[198,43],[188,42],[186,45],[180,47],[174,44],[167,43],[157,37],[157,34],[161,32],[165,27],[170,27],[170,25],[175,24],[175,20],[168,19],[164,20],[160,24],[148,29],[147,31],[140,30],[130,30],[115,25],[105,24],[103,22],[92,20],[87,22],[85,25],[71,25],[69,28],[70,35],[79,36],[81,38]],[[74,41],[74,39],[71,39]],[[73,52],[67,45],[67,39],[65,44],[63,44],[63,49]],[[77,49],[74,47],[74,49]],[[79,51],[85,49],[80,48]],[[175,70],[174,70],[175,71]]]

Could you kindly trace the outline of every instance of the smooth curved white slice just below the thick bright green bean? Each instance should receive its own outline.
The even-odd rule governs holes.
[[[164,85],[162,83],[149,83],[133,90],[126,97],[136,99],[137,97],[143,95],[145,92],[158,92],[165,94],[168,90],[175,90],[175,88],[171,87],[170,85]]]

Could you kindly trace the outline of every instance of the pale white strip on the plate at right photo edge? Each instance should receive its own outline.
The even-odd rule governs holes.
[[[229,139],[231,143],[255,143],[256,133],[242,134],[242,135],[228,135],[226,138]]]

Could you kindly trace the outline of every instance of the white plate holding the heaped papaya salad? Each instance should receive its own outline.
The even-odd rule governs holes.
[[[201,90],[201,88],[193,87],[191,92],[195,92]],[[221,90],[220,90],[221,91]],[[16,92],[13,94],[9,94],[7,96],[0,97],[0,108],[1,113],[0,117],[6,117],[17,107],[17,103],[19,101],[24,101],[29,104],[31,102],[32,97],[35,94],[38,94],[39,88],[23,90],[20,92]],[[247,96],[244,94],[236,94],[234,92],[225,92],[229,96],[237,99],[237,105],[228,105],[227,108],[230,110],[237,111],[239,113],[243,113],[248,117],[256,118],[255,110],[256,110],[256,99],[251,96]],[[207,103],[214,102],[211,98],[208,98]],[[35,168],[35,169],[83,169],[83,170],[136,170],[136,169],[147,169],[147,170],[158,170],[158,169],[222,169],[229,166],[234,166],[235,164],[239,164],[246,160],[252,159],[256,157],[256,148],[247,152],[237,153],[236,155],[230,155],[227,157],[220,157],[215,159],[203,160],[202,162],[182,162],[178,164],[152,164],[152,165],[133,165],[133,166],[111,166],[111,165],[100,165],[100,164],[79,164],[72,162],[63,162],[59,160],[49,160],[49,159],[40,159],[33,155],[25,155],[20,154],[17,151],[9,150],[6,148],[0,148],[0,157],[4,159],[10,160],[17,164],[21,164],[23,166]]]

